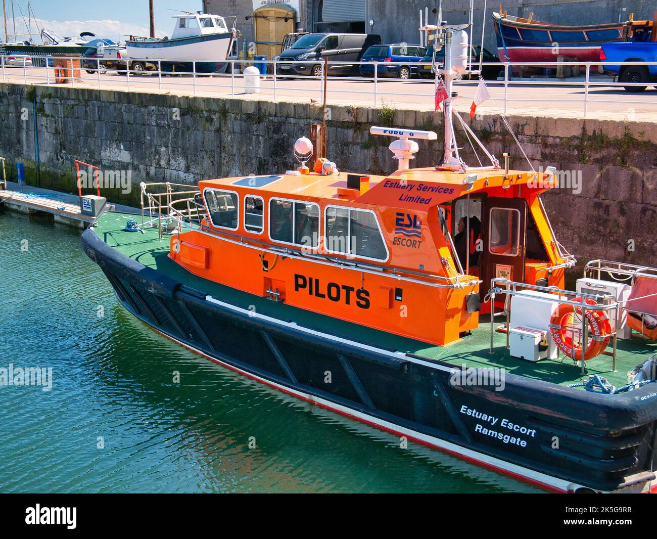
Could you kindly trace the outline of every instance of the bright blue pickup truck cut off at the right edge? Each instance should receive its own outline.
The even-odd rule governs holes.
[[[637,86],[625,86],[625,91],[642,92],[646,87],[657,87],[657,65],[623,66],[621,62],[657,62],[657,42],[654,41],[612,41],[603,43],[600,50],[603,62],[619,62],[618,65],[606,65],[604,70],[618,73],[618,82],[635,83]],[[639,86],[639,83],[646,83]],[[653,84],[654,83],[654,84]]]

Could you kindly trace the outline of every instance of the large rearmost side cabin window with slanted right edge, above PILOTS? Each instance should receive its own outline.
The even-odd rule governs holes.
[[[327,250],[371,260],[388,260],[388,249],[371,210],[327,206]]]

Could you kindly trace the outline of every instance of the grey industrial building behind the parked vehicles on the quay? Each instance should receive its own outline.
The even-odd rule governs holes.
[[[274,44],[298,30],[367,32],[379,34],[384,43],[417,43],[420,9],[428,8],[429,22],[433,23],[438,4],[438,0],[204,0],[202,9],[225,17],[237,16],[244,42],[258,44],[258,54],[271,57]],[[653,0],[490,0],[486,3],[484,46],[493,52],[491,13],[499,11],[500,4],[510,15],[527,17],[533,13],[534,19],[572,25],[627,20],[631,13],[636,19],[652,19],[655,7]],[[443,20],[466,22],[469,6],[470,0],[443,0]],[[473,35],[478,40],[484,0],[475,0],[474,7]]]

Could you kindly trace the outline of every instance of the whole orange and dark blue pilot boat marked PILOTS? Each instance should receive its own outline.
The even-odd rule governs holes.
[[[438,27],[448,96],[465,27]],[[310,171],[302,137],[296,170],[142,183],[83,249],[135,317],[288,395],[547,490],[657,489],[657,269],[595,260],[567,290],[556,171],[483,144],[468,166],[452,101],[435,167],[410,166],[432,131],[371,128],[389,176]]]

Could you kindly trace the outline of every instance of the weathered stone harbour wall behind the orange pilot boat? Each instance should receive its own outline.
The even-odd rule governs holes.
[[[140,181],[194,184],[294,168],[292,145],[321,114],[317,105],[265,99],[4,83],[0,156],[7,158],[8,179],[16,179],[15,163],[23,162],[30,185],[65,193],[77,189],[75,159],[123,174],[131,180],[129,192],[118,187],[102,194],[139,206]],[[580,262],[657,265],[657,124],[543,116],[508,121],[533,166],[555,166],[566,183],[544,195],[545,206],[560,242]],[[328,158],[340,170],[386,174],[396,168],[390,139],[369,135],[371,125],[433,129],[440,139],[441,122],[432,112],[330,106]],[[512,168],[528,168],[499,116],[478,114],[471,126],[500,160],[508,151]],[[466,162],[476,164],[462,131],[459,141]],[[435,164],[440,145],[419,145],[413,166]]]

